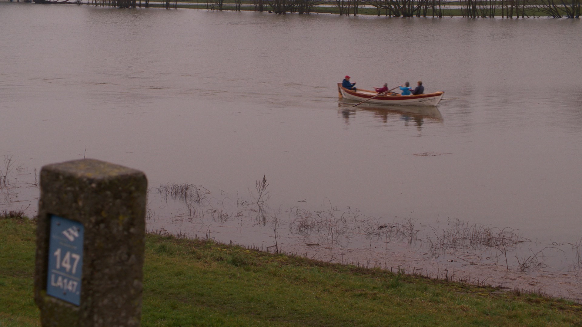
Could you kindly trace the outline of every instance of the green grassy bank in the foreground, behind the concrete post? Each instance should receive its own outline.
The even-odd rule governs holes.
[[[0,326],[37,326],[35,225],[0,218]],[[143,326],[581,326],[582,306],[148,235]]]

